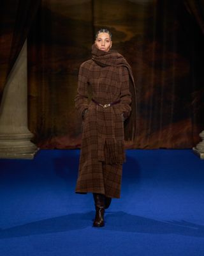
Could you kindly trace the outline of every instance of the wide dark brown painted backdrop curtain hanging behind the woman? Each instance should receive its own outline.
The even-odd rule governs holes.
[[[78,68],[91,57],[96,31],[108,28],[137,86],[137,135],[126,146],[196,145],[204,129],[202,10],[201,1],[43,0],[29,34],[34,142],[41,148],[80,147]]]

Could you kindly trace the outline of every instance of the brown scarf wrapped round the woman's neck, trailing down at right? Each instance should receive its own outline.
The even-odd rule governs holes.
[[[134,140],[136,137],[136,86],[132,69],[126,59],[117,51],[108,52],[99,50],[95,44],[92,45],[92,60],[101,67],[126,67],[129,71],[130,92],[132,95],[131,115],[124,123],[125,140]]]

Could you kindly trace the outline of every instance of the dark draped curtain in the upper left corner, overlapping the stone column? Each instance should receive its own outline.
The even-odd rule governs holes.
[[[40,0],[1,0],[0,4],[0,102],[6,78],[17,60]]]

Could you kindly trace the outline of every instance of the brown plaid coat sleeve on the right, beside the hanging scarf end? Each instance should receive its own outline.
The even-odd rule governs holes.
[[[122,67],[122,83],[120,88],[120,111],[124,118],[127,118],[131,112],[131,93],[129,91],[129,71],[128,68]]]

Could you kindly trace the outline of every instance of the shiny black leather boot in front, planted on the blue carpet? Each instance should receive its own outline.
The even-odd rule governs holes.
[[[93,193],[96,216],[93,223],[93,227],[103,227],[104,226],[104,213],[105,213],[105,195]]]

